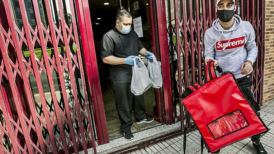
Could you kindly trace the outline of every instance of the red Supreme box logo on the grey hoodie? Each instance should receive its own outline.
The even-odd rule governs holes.
[[[245,44],[244,38],[245,38],[245,36],[231,39],[230,41],[229,40],[217,41],[216,49],[223,50],[225,46],[226,46],[225,49],[234,49],[234,48],[241,47]],[[228,43],[228,41],[229,41],[229,43]]]

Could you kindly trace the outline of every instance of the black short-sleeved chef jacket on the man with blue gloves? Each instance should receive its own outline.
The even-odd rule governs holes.
[[[139,51],[144,46],[139,40],[139,36],[134,30],[128,34],[122,34],[114,27],[106,32],[101,40],[101,58],[115,56],[127,58],[128,56],[138,56]],[[116,83],[128,83],[132,78],[132,67],[128,64],[109,65],[110,79]]]

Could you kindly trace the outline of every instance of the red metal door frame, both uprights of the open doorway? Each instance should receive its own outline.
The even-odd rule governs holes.
[[[85,59],[85,68],[87,73],[87,82],[90,89],[92,101],[92,109],[95,121],[95,127],[98,137],[98,145],[109,142],[107,133],[106,117],[102,99],[102,90],[99,80],[99,72],[97,67],[95,46],[92,33],[92,24],[87,0],[76,0],[77,12],[79,14],[79,30],[82,37],[83,55]],[[171,91],[171,77],[169,68],[169,53],[168,53],[168,39],[166,13],[164,0],[148,0],[149,17],[151,28],[151,39],[153,51],[156,56],[161,57],[163,87],[156,90],[158,118],[155,120],[163,123],[164,119],[167,124],[174,123],[173,107],[172,107],[172,91]],[[80,7],[79,7],[80,6]],[[158,28],[158,30],[157,30]],[[87,34],[88,33],[88,34]],[[165,113],[165,115],[164,115]]]

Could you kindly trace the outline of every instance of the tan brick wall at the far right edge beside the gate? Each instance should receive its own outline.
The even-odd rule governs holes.
[[[266,0],[263,102],[274,98],[274,0]]]

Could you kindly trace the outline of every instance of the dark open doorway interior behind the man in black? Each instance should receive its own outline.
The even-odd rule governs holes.
[[[151,24],[152,21],[150,20],[148,0],[126,0],[121,2],[119,2],[119,0],[92,0],[89,2],[92,33],[109,139],[119,138],[123,135],[120,131],[120,120],[116,111],[115,97],[110,81],[109,65],[103,63],[101,59],[101,39],[107,31],[115,26],[116,13],[121,7],[130,11],[133,20],[137,18],[141,21],[142,27],[138,32],[139,40],[145,49],[154,52],[152,48],[152,38],[154,36],[150,33],[151,25],[153,24]],[[134,30],[134,22],[131,29]],[[157,56],[156,53],[154,54]],[[147,64],[147,58],[140,55],[139,57]],[[132,133],[158,126],[163,122],[163,109],[160,105],[162,98],[160,96],[161,92],[159,91],[161,91],[161,89],[151,87],[144,93],[147,116],[154,117],[155,120],[149,124],[136,124],[136,120],[133,118]]]

